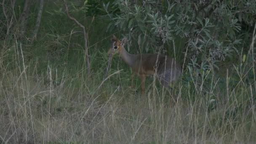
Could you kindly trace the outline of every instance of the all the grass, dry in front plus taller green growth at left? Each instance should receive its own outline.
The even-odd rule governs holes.
[[[171,93],[149,77],[141,96],[139,78],[131,89],[131,69],[118,56],[109,71],[116,74],[103,81],[117,32],[106,32],[108,19],[75,15],[89,25],[88,79],[80,29],[50,4],[34,44],[0,42],[0,143],[255,143],[255,62],[245,71],[242,61],[201,75],[185,69]],[[175,41],[177,59],[182,41]]]

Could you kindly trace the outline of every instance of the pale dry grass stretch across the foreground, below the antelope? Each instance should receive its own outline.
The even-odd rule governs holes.
[[[104,62],[104,54],[92,63]],[[100,89],[104,64],[87,80],[86,69],[79,64],[59,68],[48,63],[42,69],[40,62],[23,60],[21,51],[15,57],[0,71],[3,143],[255,142],[255,88],[243,79],[230,88],[232,75],[227,75],[227,81],[220,77],[221,81],[212,71],[204,79],[191,73],[191,80],[178,81],[173,93],[162,91],[154,78],[148,78],[147,94],[141,96],[139,80],[137,92],[129,88],[130,69],[118,57],[110,74],[124,70],[109,77]],[[15,68],[8,70],[10,65]],[[175,104],[171,96],[179,101]],[[211,99],[217,103],[210,104]]]

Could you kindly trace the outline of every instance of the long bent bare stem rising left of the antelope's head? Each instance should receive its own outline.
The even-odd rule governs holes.
[[[66,0],[64,0],[64,5],[65,5],[66,13],[67,13],[67,16],[69,17],[69,19],[75,21],[75,23],[83,29],[84,41],[85,41],[85,43],[84,43],[84,45],[85,45],[85,59],[86,59],[87,73],[88,73],[88,78],[89,78],[90,75],[91,75],[91,64],[90,64],[90,59],[89,59],[89,54],[88,54],[88,34],[85,31],[85,27],[82,24],[80,24],[80,22],[77,21],[74,17],[70,16]]]

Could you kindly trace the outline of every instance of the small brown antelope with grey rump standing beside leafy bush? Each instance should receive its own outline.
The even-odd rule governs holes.
[[[141,79],[141,94],[145,93],[146,76],[156,73],[158,80],[165,88],[170,88],[171,81],[177,80],[181,75],[180,65],[171,57],[157,54],[130,54],[124,45],[126,39],[118,40],[115,35],[112,37],[112,48],[109,49],[109,56],[119,53],[121,59],[132,69],[131,83],[133,87],[134,74]]]

